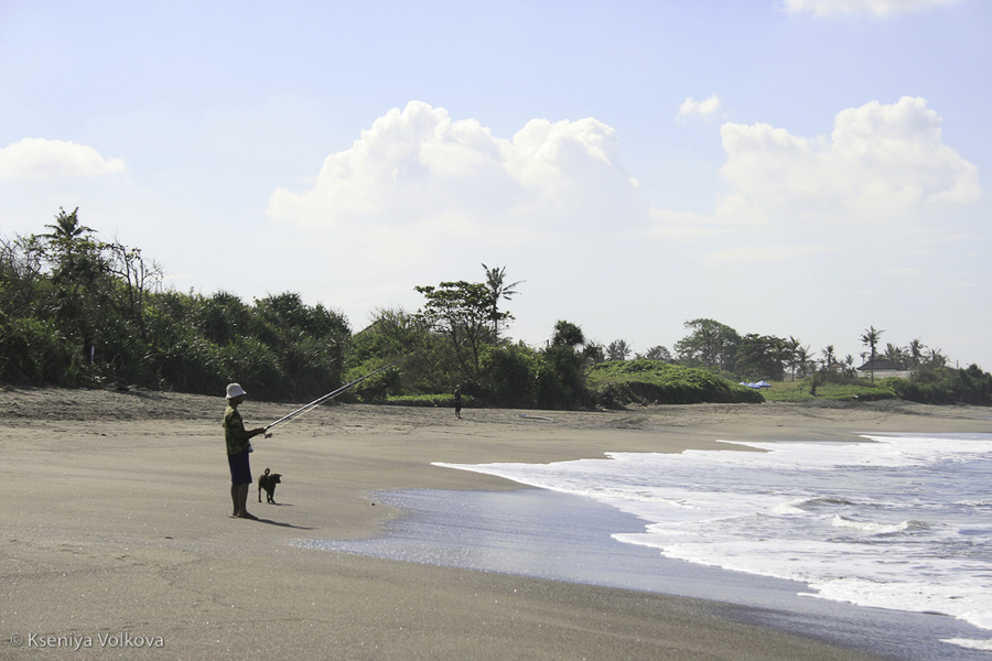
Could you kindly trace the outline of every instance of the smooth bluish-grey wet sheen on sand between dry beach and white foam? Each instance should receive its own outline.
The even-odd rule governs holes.
[[[981,661],[988,652],[942,641],[988,631],[934,614],[817,598],[808,584],[668,559],[613,534],[645,521],[581,496],[513,491],[377,494],[406,514],[367,540],[306,540],[303,548],[428,565],[703,599],[734,621],[770,627],[907,661]]]

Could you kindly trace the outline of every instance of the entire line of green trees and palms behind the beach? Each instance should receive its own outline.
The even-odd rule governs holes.
[[[295,293],[246,303],[229,292],[165,289],[161,266],[138,248],[100,240],[78,209],[60,209],[45,229],[0,237],[0,382],[217,394],[237,380],[251,383],[259,398],[309,401],[410,356],[402,372],[376,375],[353,394],[384,401],[450,393],[460,384],[467,398],[494,405],[562,409],[593,405],[591,366],[633,354],[622,339],[587,340],[568,321],[549,329],[541,348],[507,338],[514,317],[505,305],[521,282],[508,282],[503,267],[482,264],[483,282],[418,285],[420,310],[378,310],[368,327],[353,333],[339,312],[306,305]],[[817,357],[794,337],[741,335],[714,319],[692,319],[686,328],[673,353],[659,345],[635,357],[730,380],[854,375],[854,358],[837,357],[832,345]],[[865,330],[865,356],[920,371],[946,367],[940,350],[920,340],[881,349],[882,333]]]

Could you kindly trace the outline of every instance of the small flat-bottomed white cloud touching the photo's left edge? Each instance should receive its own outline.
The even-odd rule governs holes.
[[[121,173],[123,159],[107,159],[84,144],[25,138],[0,149],[0,180],[44,181]]]

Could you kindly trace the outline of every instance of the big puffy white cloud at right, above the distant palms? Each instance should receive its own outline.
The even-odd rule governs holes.
[[[765,123],[725,123],[721,137],[721,173],[733,186],[726,215],[872,220],[981,194],[977,167],[944,144],[940,118],[921,98],[843,110],[829,138]]]

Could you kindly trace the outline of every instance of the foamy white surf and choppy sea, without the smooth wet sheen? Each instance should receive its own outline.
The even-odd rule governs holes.
[[[725,441],[727,449],[681,454],[436,465],[608,503],[645,521],[644,532],[615,539],[668,557],[992,630],[992,434],[863,440]]]

